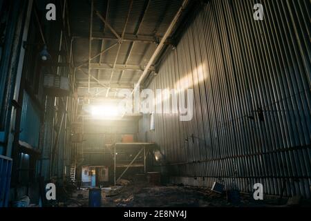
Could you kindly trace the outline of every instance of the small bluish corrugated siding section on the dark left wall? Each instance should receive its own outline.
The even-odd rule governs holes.
[[[27,142],[33,148],[39,144],[40,115],[28,93],[24,90],[23,109],[21,112],[21,133],[19,140]]]

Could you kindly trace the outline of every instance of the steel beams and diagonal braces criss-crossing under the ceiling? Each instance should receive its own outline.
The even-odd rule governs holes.
[[[142,80],[144,77],[146,77],[147,73],[150,71],[156,71],[156,68],[152,66],[153,61],[155,61],[156,57],[160,55],[160,52],[162,50],[162,47],[167,44],[173,44],[173,40],[169,39],[169,36],[173,32],[173,29],[176,26],[176,23],[178,23],[180,16],[182,15],[182,12],[185,10],[185,8],[188,6],[189,0],[182,1],[181,7],[179,8],[177,14],[175,17],[173,17],[173,20],[171,21],[169,28],[167,28],[166,32],[164,33],[164,36],[162,37],[156,37],[152,35],[139,35],[140,30],[142,28],[142,23],[145,19],[145,15],[147,14],[147,10],[149,9],[151,1],[148,0],[144,3],[144,7],[142,10],[142,13],[140,17],[138,18],[138,26],[135,27],[135,30],[133,34],[126,33],[126,27],[127,23],[129,22],[129,17],[131,15],[132,11],[132,6],[133,6],[133,1],[130,1],[129,3],[129,10],[126,15],[126,20],[124,22],[124,26],[122,28],[122,33],[118,34],[117,31],[111,26],[111,24],[108,21],[108,12],[109,12],[109,5],[110,2],[107,1],[106,3],[106,13],[105,15],[101,15],[101,12],[99,12],[95,7],[94,7],[94,0],[91,1],[91,17],[90,17],[90,28],[89,28],[89,35],[88,35],[88,45],[89,45],[89,50],[88,50],[88,60],[84,61],[82,64],[79,64],[76,66],[75,70],[80,70],[82,73],[85,75],[88,75],[88,94],[91,93],[91,79],[95,80],[98,84],[100,84],[103,88],[103,90],[96,90],[95,96],[102,93],[103,91],[106,92],[106,97],[108,97],[109,92],[113,92],[114,86],[111,86],[112,84],[112,79],[113,75],[115,73],[115,70],[120,70],[120,76],[118,77],[116,84],[119,84],[120,79],[122,79],[122,76],[124,75],[124,71],[142,71],[142,75],[140,76],[140,79],[138,80],[138,84],[142,83]],[[104,31],[103,32],[93,32],[93,16],[97,15],[97,17],[104,23]],[[111,34],[106,33],[105,30],[109,29],[111,31]],[[86,36],[79,36],[75,35],[73,39],[78,39],[78,38],[86,38]],[[91,56],[91,47],[92,47],[92,40],[94,39],[100,39],[102,40],[101,44],[101,50],[97,55],[94,55],[93,57]],[[104,41],[105,40],[115,40],[116,42],[109,46],[108,48],[104,49]],[[125,56],[124,64],[117,64],[117,59],[120,57],[120,50],[123,42],[130,42],[129,50]],[[157,48],[155,52],[153,52],[153,55],[151,56],[151,59],[149,59],[149,62],[147,66],[140,66],[140,65],[129,65],[129,59],[133,53],[133,48],[135,46],[136,42],[144,42],[144,43],[149,43],[149,44],[157,44]],[[117,46],[117,52],[114,58],[114,61],[112,64],[105,64],[102,63],[102,55],[105,52],[108,52],[115,46]],[[92,59],[95,59],[97,57],[100,57],[99,63],[91,63]],[[88,73],[84,71],[82,68],[87,65],[88,68]],[[91,74],[91,70],[97,70],[97,77],[94,77]],[[111,70],[111,75],[109,77],[109,81],[106,83],[102,83],[100,81],[100,70]],[[134,81],[135,82],[135,81]],[[78,85],[79,88],[79,85]],[[135,88],[136,89],[136,88]]]

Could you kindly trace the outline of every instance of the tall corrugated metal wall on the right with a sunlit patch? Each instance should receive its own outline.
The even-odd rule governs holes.
[[[255,3],[263,21],[253,19]],[[310,19],[309,0],[214,0],[189,17],[149,88],[189,83],[194,117],[156,114],[155,131],[140,126],[172,182],[220,179],[242,191],[261,182],[267,194],[285,185],[285,195],[310,198]]]

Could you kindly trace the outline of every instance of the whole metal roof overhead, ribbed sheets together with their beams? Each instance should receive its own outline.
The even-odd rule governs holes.
[[[91,95],[103,96],[106,91],[102,88],[111,88],[107,93],[111,97],[116,88],[133,88],[181,3],[181,0],[133,0],[131,6],[131,0],[93,0],[91,57],[109,49],[91,59]],[[81,87],[78,93],[83,96],[88,95],[91,1],[69,1],[68,6],[74,37],[73,60],[75,66],[79,66],[75,77]],[[105,25],[96,12],[109,25]],[[124,40],[119,48],[118,39],[109,26],[122,36],[125,24]]]

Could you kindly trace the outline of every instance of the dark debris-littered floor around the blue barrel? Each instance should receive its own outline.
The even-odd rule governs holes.
[[[117,191],[102,189],[102,207],[249,207],[286,206],[287,198],[278,202],[276,196],[265,196],[264,200],[253,200],[249,193],[241,193],[238,203],[228,202],[227,195],[214,193],[209,189],[190,186],[150,186],[129,184]],[[310,205],[310,202],[306,202]],[[66,203],[68,207],[88,206],[88,189],[77,190]]]

